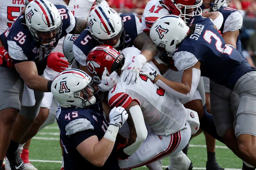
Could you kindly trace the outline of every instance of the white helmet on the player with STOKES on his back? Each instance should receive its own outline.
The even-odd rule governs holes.
[[[160,50],[164,48],[168,56],[172,56],[187,36],[189,27],[177,15],[164,15],[158,18],[150,29],[150,38]]]

